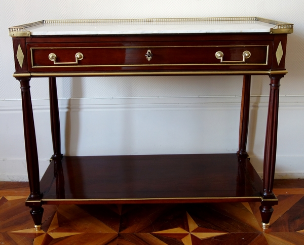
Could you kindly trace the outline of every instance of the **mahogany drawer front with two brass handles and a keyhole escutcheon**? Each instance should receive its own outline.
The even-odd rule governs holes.
[[[270,44],[111,46],[62,44],[31,47],[29,70],[201,70],[269,68]]]

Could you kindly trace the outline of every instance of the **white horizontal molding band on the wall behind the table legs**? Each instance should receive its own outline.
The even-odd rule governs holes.
[[[251,96],[251,107],[268,107],[269,96]],[[59,99],[59,110],[239,108],[240,96],[126,97]],[[49,110],[48,99],[32,100],[34,111]],[[304,108],[304,95],[280,96],[280,108]],[[21,100],[0,100],[1,112],[22,111]]]

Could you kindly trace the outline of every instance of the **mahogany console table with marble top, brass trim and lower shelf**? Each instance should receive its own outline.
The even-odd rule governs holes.
[[[47,204],[260,201],[267,229],[273,193],[280,79],[293,25],[257,17],[44,20],[9,28],[20,81],[30,207]],[[235,154],[62,156],[56,77],[242,75]],[[251,75],[270,77],[263,180],[246,152]],[[53,155],[42,180],[29,81],[49,77]],[[102,130],[102,129],[101,129]],[[102,139],[106,140],[106,139]],[[123,188],[122,188],[123,186]]]

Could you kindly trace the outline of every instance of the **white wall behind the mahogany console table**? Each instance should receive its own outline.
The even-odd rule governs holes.
[[[43,19],[258,16],[294,23],[281,82],[277,178],[304,178],[304,2],[0,2],[0,180],[26,180],[19,82],[8,27]],[[236,152],[242,77],[58,78],[62,151],[71,155]],[[248,151],[259,173],[269,78],[252,78]],[[48,81],[31,80],[41,174],[52,155]],[[80,99],[81,98],[81,99]],[[94,118],[94,120],[92,119]]]

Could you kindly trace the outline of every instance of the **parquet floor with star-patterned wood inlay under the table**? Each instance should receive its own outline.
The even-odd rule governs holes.
[[[259,203],[195,205],[45,205],[35,232],[27,183],[0,182],[0,244],[304,244],[304,180],[277,180],[271,226]]]

